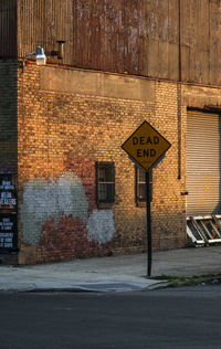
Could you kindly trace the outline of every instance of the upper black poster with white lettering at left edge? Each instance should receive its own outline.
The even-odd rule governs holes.
[[[14,178],[11,173],[0,174],[0,211],[17,211],[17,192]]]

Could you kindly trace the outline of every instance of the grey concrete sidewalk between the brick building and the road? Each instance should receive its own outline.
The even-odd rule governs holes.
[[[151,279],[147,255],[95,257],[39,264],[0,266],[0,290],[136,290],[159,287],[155,276],[221,274],[221,246],[182,248],[152,253]]]

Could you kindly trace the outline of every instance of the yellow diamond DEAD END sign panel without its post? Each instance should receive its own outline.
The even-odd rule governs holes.
[[[170,146],[170,142],[149,123],[144,121],[122,145],[122,148],[148,171]]]

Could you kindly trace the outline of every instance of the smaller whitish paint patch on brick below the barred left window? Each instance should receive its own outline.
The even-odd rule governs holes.
[[[114,214],[112,210],[94,210],[87,222],[87,237],[95,240],[98,244],[105,244],[112,241],[115,226]]]

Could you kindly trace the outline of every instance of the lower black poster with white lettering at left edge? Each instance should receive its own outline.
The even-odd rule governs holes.
[[[0,213],[0,251],[17,250],[17,214]]]

